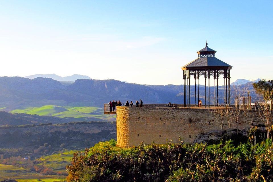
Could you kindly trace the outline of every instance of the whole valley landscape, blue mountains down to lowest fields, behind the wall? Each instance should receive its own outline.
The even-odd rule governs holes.
[[[204,98],[204,86],[199,93]],[[183,85],[0,77],[0,180],[65,181],[76,151],[116,140],[116,115],[104,115],[103,104],[140,98],[145,104],[183,103]]]

